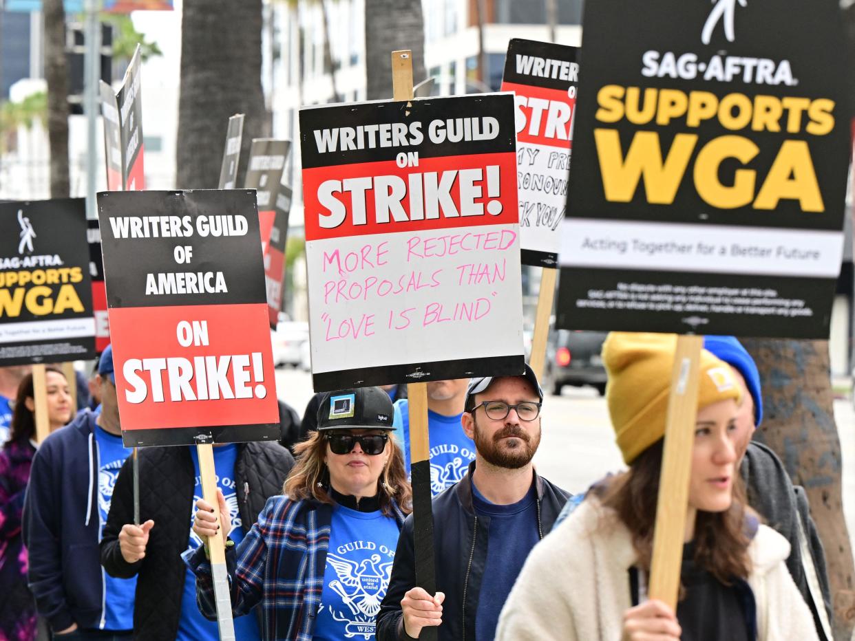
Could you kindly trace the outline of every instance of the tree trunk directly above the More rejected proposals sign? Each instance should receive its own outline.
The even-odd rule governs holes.
[[[369,100],[392,97],[392,51],[413,52],[413,84],[425,73],[421,0],[365,0],[365,75]]]

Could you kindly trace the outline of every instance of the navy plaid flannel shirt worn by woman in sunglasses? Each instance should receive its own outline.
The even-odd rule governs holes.
[[[393,503],[398,529],[404,513]],[[257,523],[240,544],[226,550],[232,614],[246,615],[262,604],[262,638],[311,641],[321,605],[333,507],[316,501],[270,497]],[[214,584],[204,547],[187,550],[196,574],[199,610],[215,620]]]

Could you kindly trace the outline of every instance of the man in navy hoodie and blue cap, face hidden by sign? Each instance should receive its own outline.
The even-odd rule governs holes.
[[[81,412],[32,459],[23,537],[36,609],[55,634],[129,639],[136,580],[105,575],[98,553],[115,479],[131,453],[121,442],[112,346],[98,379],[101,413]]]

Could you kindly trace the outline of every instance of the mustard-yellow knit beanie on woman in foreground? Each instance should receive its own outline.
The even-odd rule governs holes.
[[[605,339],[605,397],[627,464],[665,435],[676,347],[676,334],[610,332]],[[728,398],[739,403],[740,395],[728,364],[702,350],[698,409]]]

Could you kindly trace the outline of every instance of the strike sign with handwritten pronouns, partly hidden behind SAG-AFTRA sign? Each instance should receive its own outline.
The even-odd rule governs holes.
[[[567,201],[579,50],[514,38],[502,91],[515,93],[516,171],[522,263],[556,268]]]

